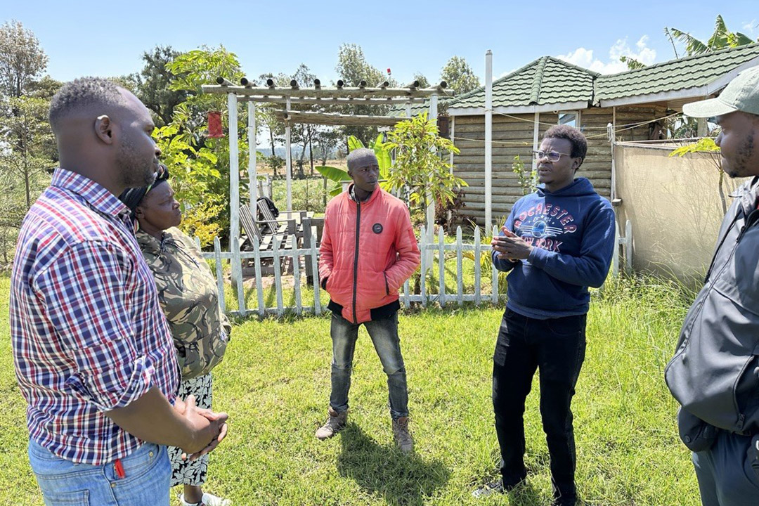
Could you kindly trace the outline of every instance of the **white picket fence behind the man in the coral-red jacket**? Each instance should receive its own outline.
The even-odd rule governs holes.
[[[497,228],[493,228],[493,234],[497,233]],[[437,240],[427,240],[427,231],[424,227],[421,228],[419,234],[419,250],[421,255],[421,272],[429,272],[437,264],[437,293],[433,293],[433,287],[430,286],[430,279],[427,275],[420,278],[420,293],[411,294],[411,288],[409,282],[406,281],[403,284],[403,288],[400,295],[400,302],[403,306],[409,307],[411,303],[420,303],[421,306],[426,307],[429,304],[439,304],[439,306],[446,306],[449,304],[463,305],[465,302],[474,302],[479,306],[483,301],[496,303],[499,300],[498,291],[498,271],[495,267],[490,269],[490,279],[486,282],[490,283],[490,291],[483,293],[483,276],[480,267],[480,258],[482,255],[490,255],[490,244],[482,244],[480,237],[480,228],[474,229],[474,242],[467,244],[462,239],[461,227],[456,229],[456,240],[453,243],[446,242],[446,237],[443,234],[442,229],[439,230]],[[197,238],[196,238],[197,240]],[[276,241],[274,241],[276,243]],[[318,269],[318,254],[319,250],[316,246],[316,237],[311,236],[311,244],[301,245],[298,247],[298,241],[291,240],[293,247],[286,250],[278,250],[275,247],[270,251],[261,251],[260,245],[257,240],[254,240],[254,249],[252,251],[241,251],[239,246],[239,240],[237,237],[232,240],[232,248],[230,251],[222,251],[219,238],[213,242],[213,252],[203,252],[203,258],[213,259],[216,261],[216,282],[219,287],[219,294],[221,297],[222,309],[225,312],[236,316],[248,316],[256,314],[263,317],[269,314],[276,316],[282,316],[285,312],[295,313],[301,315],[302,313],[313,313],[320,315],[326,309],[326,306],[322,306],[320,300],[321,287],[319,286],[319,269]],[[456,265],[456,290],[454,293],[446,293],[446,278],[450,279],[450,275],[446,273],[446,253],[455,252],[455,265]],[[465,293],[464,291],[464,252],[474,252],[474,290],[472,293]],[[424,254],[430,252],[431,254]],[[301,259],[310,257],[312,262],[310,263],[312,272],[304,272],[304,265],[307,262],[301,262]],[[442,262],[439,259],[443,259]],[[283,284],[281,268],[273,269],[274,282],[273,288],[276,291],[276,305],[266,306],[265,303],[265,289],[263,287],[262,262],[266,262],[271,259],[274,266],[281,266],[282,260],[285,263],[291,262],[292,278],[293,278],[293,293],[294,293],[294,306],[285,306],[283,300]],[[225,260],[231,261],[231,281],[232,289],[237,295],[237,308],[228,307],[228,303],[224,296],[224,283],[225,277],[222,272],[222,265]],[[436,262],[437,260],[437,262]],[[255,305],[248,307],[246,303],[245,291],[247,288],[244,285],[242,275],[243,262],[252,263],[254,266],[254,284],[255,284]],[[449,266],[452,266],[452,262],[449,261]],[[314,280],[317,280],[313,284],[313,304],[304,305],[303,291],[304,291],[304,277],[310,275]],[[485,285],[487,286],[487,284]],[[308,303],[311,301],[309,300]]]

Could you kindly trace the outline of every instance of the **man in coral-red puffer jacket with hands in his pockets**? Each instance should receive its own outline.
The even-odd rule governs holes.
[[[348,420],[353,352],[363,324],[387,375],[395,443],[408,453],[414,440],[398,338],[398,288],[419,266],[419,247],[408,207],[377,184],[379,164],[371,149],[348,155],[348,175],[348,191],[327,204],[319,250],[320,283],[332,310],[332,394],[317,438],[331,438]]]

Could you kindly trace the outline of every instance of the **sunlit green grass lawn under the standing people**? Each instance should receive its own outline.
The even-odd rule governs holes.
[[[8,277],[0,278],[0,504],[39,505],[13,372],[8,291]],[[610,281],[594,297],[573,403],[584,504],[699,504],[690,455],[677,437],[676,404],[663,382],[686,309],[687,296],[653,281]],[[329,397],[329,318],[239,322],[215,371],[215,407],[230,414],[230,432],[211,457],[206,490],[238,505],[548,504],[537,382],[525,413],[527,486],[508,497],[471,497],[496,476],[490,372],[501,313],[402,315],[416,440],[410,457],[393,446],[386,379],[363,330],[348,429],[319,442],[313,432]]]

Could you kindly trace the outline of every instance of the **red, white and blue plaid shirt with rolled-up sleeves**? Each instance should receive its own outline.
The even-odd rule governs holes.
[[[128,209],[58,168],[24,218],[11,278],[11,339],[30,437],[101,465],[142,445],[104,414],[156,386],[174,401],[178,366]]]

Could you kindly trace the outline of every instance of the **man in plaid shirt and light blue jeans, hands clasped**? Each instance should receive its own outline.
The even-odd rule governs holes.
[[[175,401],[171,333],[117,197],[155,178],[153,121],[132,93],[83,78],[53,97],[50,124],[60,168],[24,219],[11,279],[30,464],[48,505],[168,506],[165,445],[205,454],[227,416]]]

